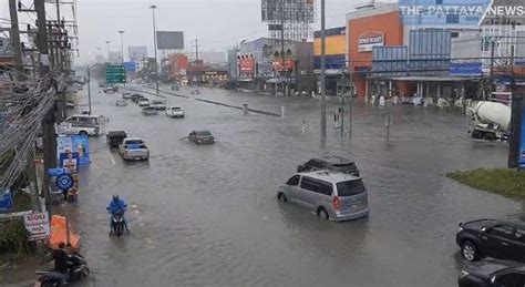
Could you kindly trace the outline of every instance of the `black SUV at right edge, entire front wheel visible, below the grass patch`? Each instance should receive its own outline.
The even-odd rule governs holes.
[[[455,242],[470,262],[485,256],[525,262],[525,223],[517,218],[460,223]]]

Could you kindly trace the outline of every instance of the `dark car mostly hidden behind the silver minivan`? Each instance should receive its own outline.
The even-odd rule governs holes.
[[[360,176],[358,166],[353,161],[336,155],[326,155],[312,158],[297,167],[298,173],[320,170],[329,170],[333,172],[348,173],[354,176]]]

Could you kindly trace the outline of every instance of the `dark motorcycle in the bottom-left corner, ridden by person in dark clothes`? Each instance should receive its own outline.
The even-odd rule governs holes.
[[[55,271],[55,270],[39,270],[39,276],[34,283],[34,287],[54,287],[54,286],[66,286],[71,283],[79,281],[90,275],[90,268],[84,257],[79,253],[74,253],[70,256],[69,260],[72,264],[72,269],[69,274]]]

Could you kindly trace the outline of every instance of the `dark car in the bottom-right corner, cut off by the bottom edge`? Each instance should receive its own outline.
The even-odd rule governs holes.
[[[525,266],[515,262],[485,259],[460,273],[460,287],[523,287]]]

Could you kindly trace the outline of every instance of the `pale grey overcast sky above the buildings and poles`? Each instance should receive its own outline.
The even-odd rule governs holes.
[[[384,1],[384,0],[383,0]],[[392,0],[390,0],[392,1]],[[344,14],[364,0],[326,0],[327,28],[344,25]],[[32,0],[22,0],[31,6]],[[317,0],[319,8],[320,1]],[[260,0],[78,0],[78,23],[81,62],[93,58],[97,48],[105,54],[120,51],[119,30],[124,30],[124,54],[127,45],[147,45],[153,53],[153,20],[151,4],[158,8],[155,17],[158,30],[184,31],[186,50],[194,50],[198,38],[200,50],[226,50],[241,40],[267,37],[267,27],[260,20]],[[49,17],[54,18],[54,6],[47,4]],[[70,6],[62,6],[70,16]],[[27,13],[21,22],[32,22]],[[9,19],[8,0],[0,0],[0,18]],[[320,18],[320,9],[317,11]],[[2,25],[6,21],[0,22]],[[317,21],[315,28],[320,27]]]

